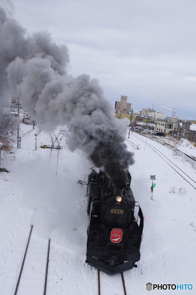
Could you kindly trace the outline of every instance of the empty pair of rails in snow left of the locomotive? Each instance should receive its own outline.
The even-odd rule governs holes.
[[[21,277],[22,277],[23,268],[24,268],[24,265],[25,265],[25,259],[26,259],[26,256],[27,256],[27,251],[28,251],[28,247],[29,247],[29,243],[30,243],[30,239],[31,239],[32,230],[33,230],[33,225],[31,225],[31,229],[30,229],[30,233],[29,233],[29,237],[28,237],[28,241],[27,241],[27,245],[26,245],[24,257],[23,257],[23,260],[22,260],[22,265],[21,265],[21,268],[20,268],[20,273],[19,273],[19,277],[18,277],[18,281],[17,281],[17,285],[16,285],[16,288],[15,288],[14,295],[17,295],[17,292],[18,292],[20,280],[21,280]],[[46,290],[47,290],[47,276],[48,276],[49,254],[50,254],[50,240],[48,240],[47,262],[46,262],[46,269],[45,269],[45,284],[44,284],[44,293],[43,293],[43,295],[46,295]]]

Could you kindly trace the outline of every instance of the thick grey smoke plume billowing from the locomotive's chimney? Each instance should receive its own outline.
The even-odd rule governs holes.
[[[70,150],[82,150],[114,182],[124,183],[133,153],[124,144],[126,128],[114,118],[98,81],[86,74],[68,76],[68,48],[52,42],[47,32],[25,34],[0,9],[0,86],[8,79],[40,128],[66,124]]]

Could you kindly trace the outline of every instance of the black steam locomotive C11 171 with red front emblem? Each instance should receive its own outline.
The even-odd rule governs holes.
[[[114,184],[105,173],[88,176],[86,263],[114,274],[137,267],[144,218],[130,188],[127,171],[125,185]]]

